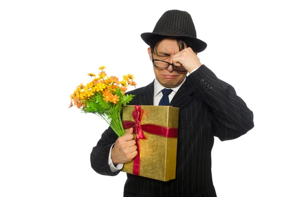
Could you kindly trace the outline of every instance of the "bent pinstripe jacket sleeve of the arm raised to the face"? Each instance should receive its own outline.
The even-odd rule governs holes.
[[[254,127],[253,112],[230,84],[220,80],[205,65],[190,77],[196,92],[211,107],[212,130],[221,141],[235,139]]]

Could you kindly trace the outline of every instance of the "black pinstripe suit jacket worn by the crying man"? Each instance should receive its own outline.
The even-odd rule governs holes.
[[[153,82],[128,94],[130,105],[153,105]],[[216,197],[211,174],[214,136],[237,138],[254,127],[253,113],[234,88],[205,65],[186,77],[170,102],[179,108],[176,179],[161,182],[127,174],[124,197]],[[111,145],[118,136],[109,128],[91,152],[99,174],[115,176],[108,166]],[[113,196],[113,194],[112,194]]]

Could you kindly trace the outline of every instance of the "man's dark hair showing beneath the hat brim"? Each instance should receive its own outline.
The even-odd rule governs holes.
[[[150,40],[149,40],[149,47],[152,50],[152,52],[155,54],[154,48],[163,40],[170,38],[170,39],[175,39],[177,46],[179,48],[179,51],[182,51],[185,47],[184,44],[186,44],[187,47],[191,47],[191,49],[193,51],[195,51],[195,49],[192,46],[192,42],[186,38],[186,37],[169,37],[169,36],[153,36]]]

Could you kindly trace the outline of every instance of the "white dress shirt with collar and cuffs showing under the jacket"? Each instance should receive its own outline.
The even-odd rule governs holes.
[[[196,69],[194,69],[192,72],[194,72]],[[190,74],[192,72],[190,72]],[[184,78],[184,80],[178,86],[176,86],[174,88],[166,88],[166,87],[162,86],[159,83],[159,81],[155,78],[154,82],[153,82],[153,105],[156,105],[156,106],[159,105],[159,102],[160,102],[160,100],[161,100],[161,98],[163,96],[161,90],[164,89],[164,88],[166,88],[166,89],[172,89],[172,92],[168,95],[169,103],[170,103],[171,100],[172,100],[172,98],[174,97],[175,93],[178,91],[178,89],[180,88],[180,86],[185,82],[185,80],[186,80],[186,77]],[[124,167],[124,164],[123,163],[119,163],[116,166],[113,165],[112,158],[111,158],[111,150],[112,150],[113,146],[114,146],[114,144],[110,148],[108,164],[109,164],[110,170],[112,172],[117,172],[117,171],[121,170]]]

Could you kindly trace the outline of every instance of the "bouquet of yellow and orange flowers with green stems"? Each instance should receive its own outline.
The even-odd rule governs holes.
[[[118,136],[123,136],[125,131],[121,119],[122,106],[135,96],[125,95],[125,92],[130,85],[136,87],[136,83],[132,74],[123,75],[123,80],[119,81],[116,76],[107,77],[104,69],[105,66],[99,67],[98,77],[94,73],[88,73],[90,82],[77,86],[70,96],[70,107],[77,106],[85,113],[96,114],[104,119]]]

